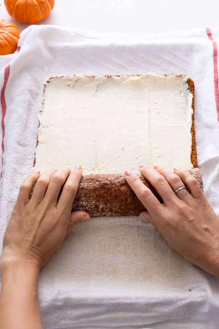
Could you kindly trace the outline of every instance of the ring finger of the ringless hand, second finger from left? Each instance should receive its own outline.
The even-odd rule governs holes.
[[[46,190],[49,186],[51,177],[55,174],[56,170],[45,171],[37,180],[36,186],[33,190],[33,195],[31,198],[31,203],[39,204],[46,193]]]

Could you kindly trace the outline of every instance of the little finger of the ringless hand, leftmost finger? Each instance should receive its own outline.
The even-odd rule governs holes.
[[[40,176],[40,171],[35,171],[32,174],[29,174],[23,181],[20,186],[20,190],[17,197],[17,203],[21,206],[25,206],[29,203],[29,195],[32,189],[32,186],[35,184],[37,179]]]

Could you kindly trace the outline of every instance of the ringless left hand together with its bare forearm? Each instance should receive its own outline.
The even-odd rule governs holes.
[[[43,329],[38,294],[40,269],[72,227],[90,218],[84,211],[71,213],[81,176],[81,166],[48,170],[42,175],[36,171],[21,184],[3,240],[0,328]]]

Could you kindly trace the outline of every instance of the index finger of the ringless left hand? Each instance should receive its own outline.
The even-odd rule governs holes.
[[[65,185],[61,192],[60,198],[58,200],[57,207],[60,207],[62,209],[66,208],[71,211],[81,177],[82,169],[81,166],[78,165],[75,167],[74,170],[70,172],[68,179],[65,182]]]

